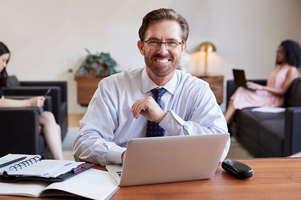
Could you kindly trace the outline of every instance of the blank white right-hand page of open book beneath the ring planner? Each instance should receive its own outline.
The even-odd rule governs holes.
[[[119,188],[116,181],[109,172],[97,169],[88,169],[76,176],[68,178],[63,182],[53,183],[45,190],[63,190],[78,196],[90,199],[107,199],[111,193]],[[44,196],[41,194],[40,196]]]

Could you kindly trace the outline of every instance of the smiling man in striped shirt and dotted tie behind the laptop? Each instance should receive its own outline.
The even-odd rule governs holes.
[[[176,70],[188,32],[188,22],[172,9],[144,16],[137,45],[146,66],[99,82],[72,146],[75,160],[122,164],[132,138],[228,132],[208,83]],[[229,146],[230,138],[220,161]]]

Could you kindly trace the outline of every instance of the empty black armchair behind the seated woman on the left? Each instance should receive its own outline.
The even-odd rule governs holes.
[[[67,82],[66,81],[18,81],[16,76],[9,76],[8,87],[3,87],[5,96],[42,96],[51,88],[48,96],[52,98],[52,113],[61,126],[62,139],[67,133]]]

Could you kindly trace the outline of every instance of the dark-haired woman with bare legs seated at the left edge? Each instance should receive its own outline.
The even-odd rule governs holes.
[[[45,97],[32,97],[24,100],[4,98],[2,86],[6,86],[8,77],[5,70],[10,58],[10,52],[4,43],[0,42],[0,108],[41,107],[44,106]],[[46,144],[55,160],[64,160],[61,140],[61,127],[51,112],[44,111],[39,117],[40,132],[44,135]],[[5,134],[5,133],[4,133]]]

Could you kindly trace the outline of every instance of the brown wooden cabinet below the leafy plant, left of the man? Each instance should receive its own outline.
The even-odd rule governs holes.
[[[96,89],[98,83],[104,79],[105,76],[97,75],[78,75],[77,82],[77,103],[82,106],[88,106]]]

